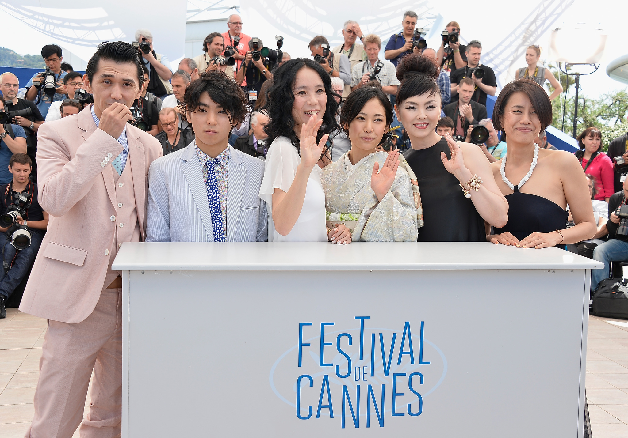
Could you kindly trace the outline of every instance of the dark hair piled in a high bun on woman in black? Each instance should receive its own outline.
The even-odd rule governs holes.
[[[401,82],[397,90],[397,105],[413,96],[427,94],[428,96],[438,95],[438,100],[442,99],[438,79],[440,68],[436,61],[427,56],[412,53],[403,57],[397,66],[397,78]]]

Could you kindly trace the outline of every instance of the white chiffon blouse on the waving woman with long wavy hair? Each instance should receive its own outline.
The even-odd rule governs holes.
[[[314,166],[308,178],[305,200],[295,226],[286,236],[279,234],[273,223],[273,193],[276,188],[290,190],[301,156],[286,137],[277,137],[268,149],[264,179],[259,197],[266,201],[268,211],[268,242],[327,242],[325,223],[325,192],[320,181],[321,169]]]

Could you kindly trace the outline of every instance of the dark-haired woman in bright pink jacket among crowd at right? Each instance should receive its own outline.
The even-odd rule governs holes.
[[[613,162],[609,156],[602,152],[602,132],[596,127],[588,127],[578,136],[580,151],[576,156],[587,175],[597,180],[598,190],[596,200],[609,201],[614,193],[613,187]]]

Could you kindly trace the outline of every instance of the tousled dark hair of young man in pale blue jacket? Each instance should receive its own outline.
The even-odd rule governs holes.
[[[244,121],[247,115],[248,99],[242,87],[220,70],[210,70],[200,75],[197,80],[190,82],[190,85],[185,88],[183,102],[179,105],[181,113],[187,114],[187,112],[198,110],[200,97],[205,92],[227,112],[232,126],[237,126]]]

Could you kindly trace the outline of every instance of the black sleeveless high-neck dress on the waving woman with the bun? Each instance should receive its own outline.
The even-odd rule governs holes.
[[[484,219],[473,202],[465,198],[460,181],[443,166],[440,152],[451,158],[444,138],[427,149],[408,149],[403,153],[421,191],[425,223],[419,228],[418,241],[486,242]]]

